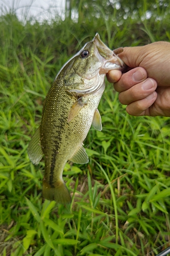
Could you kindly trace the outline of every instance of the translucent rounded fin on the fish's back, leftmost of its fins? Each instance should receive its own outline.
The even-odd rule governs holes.
[[[37,131],[33,135],[27,151],[28,151],[30,160],[34,164],[38,164],[43,156],[41,142],[40,142],[40,127],[37,129]]]

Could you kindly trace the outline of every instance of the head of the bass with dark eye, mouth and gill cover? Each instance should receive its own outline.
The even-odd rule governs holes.
[[[123,70],[124,62],[100,39],[95,37],[63,67],[65,89],[77,94],[91,94],[99,90],[110,70]]]

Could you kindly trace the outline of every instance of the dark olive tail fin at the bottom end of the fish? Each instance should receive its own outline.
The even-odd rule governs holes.
[[[55,200],[56,203],[69,204],[71,197],[64,181],[57,181],[52,187],[43,180],[42,195],[47,200]]]

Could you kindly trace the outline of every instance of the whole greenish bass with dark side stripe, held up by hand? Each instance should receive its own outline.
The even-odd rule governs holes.
[[[71,202],[62,177],[64,166],[68,160],[88,163],[83,141],[91,124],[102,131],[98,105],[105,76],[110,70],[124,68],[124,62],[96,33],[59,71],[44,100],[40,126],[28,146],[34,164],[44,155],[43,198],[60,204]]]

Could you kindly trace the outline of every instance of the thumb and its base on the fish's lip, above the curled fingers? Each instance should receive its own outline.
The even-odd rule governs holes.
[[[153,44],[138,47],[125,47],[118,54],[125,64],[130,68],[142,67],[148,77],[156,80],[158,86],[169,86],[170,72],[170,43],[153,42]]]

